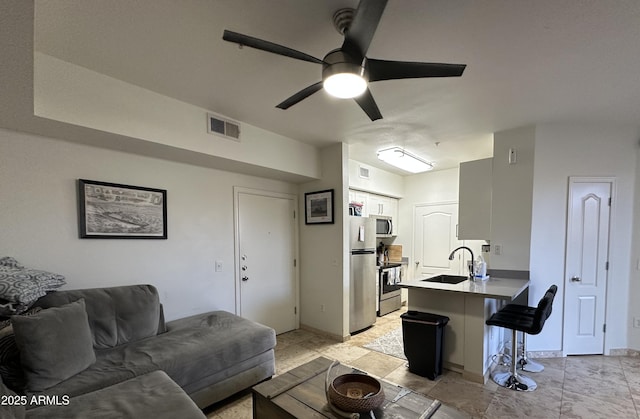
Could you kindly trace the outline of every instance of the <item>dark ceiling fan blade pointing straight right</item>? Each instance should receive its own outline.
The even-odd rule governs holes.
[[[415,63],[367,59],[369,81],[422,77],[460,77],[466,64]]]

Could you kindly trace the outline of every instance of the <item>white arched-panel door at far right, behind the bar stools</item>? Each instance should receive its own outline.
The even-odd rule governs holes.
[[[611,179],[571,178],[565,263],[564,350],[603,354]]]

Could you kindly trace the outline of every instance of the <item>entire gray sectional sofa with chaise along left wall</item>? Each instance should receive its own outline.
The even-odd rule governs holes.
[[[0,373],[26,418],[202,418],[275,372],[273,329],[225,311],[165,323],[151,285],[58,291],[34,306],[0,331],[19,352],[0,356]]]

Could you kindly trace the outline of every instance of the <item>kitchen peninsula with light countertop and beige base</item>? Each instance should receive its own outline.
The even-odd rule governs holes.
[[[486,383],[491,357],[500,348],[499,329],[486,320],[503,303],[527,304],[526,279],[466,279],[458,284],[419,280],[402,283],[408,289],[408,309],[449,317],[444,329],[444,367],[469,381]]]

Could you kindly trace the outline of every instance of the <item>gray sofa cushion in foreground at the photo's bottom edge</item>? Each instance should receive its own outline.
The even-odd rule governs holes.
[[[28,419],[205,419],[196,404],[167,374],[155,371],[113,386],[72,397],[67,405],[27,411]]]

